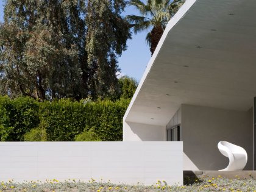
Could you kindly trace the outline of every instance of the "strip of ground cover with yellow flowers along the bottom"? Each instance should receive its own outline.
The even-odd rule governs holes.
[[[218,177],[200,177],[200,178],[185,178],[184,183],[187,185],[169,186],[165,180],[158,180],[151,186],[144,186],[141,183],[137,185],[126,184],[113,184],[110,181],[103,182],[96,181],[94,179],[88,182],[81,182],[80,180],[69,179],[64,182],[59,182],[57,179],[49,179],[41,182],[37,181],[24,181],[23,183],[17,183],[13,180],[9,182],[0,183],[0,192],[3,191],[45,191],[45,192],[57,192],[57,191],[86,191],[86,192],[154,192],[154,191],[252,191],[256,192],[256,180],[240,179],[236,176],[235,179],[225,179],[221,176]]]

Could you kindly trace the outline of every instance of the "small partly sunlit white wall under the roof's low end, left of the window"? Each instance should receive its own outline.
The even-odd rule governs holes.
[[[166,141],[166,127],[123,121],[124,141]]]

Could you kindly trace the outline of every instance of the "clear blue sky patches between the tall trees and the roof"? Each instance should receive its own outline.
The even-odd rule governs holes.
[[[123,15],[137,15],[138,12],[133,7],[127,7]],[[3,1],[0,0],[0,21],[3,20]],[[151,52],[149,46],[146,44],[145,38],[148,32],[140,32],[137,35],[132,35],[132,40],[127,41],[127,51],[123,52],[119,57],[119,68],[121,73],[130,77],[134,77],[140,80],[149,59],[151,58]]]

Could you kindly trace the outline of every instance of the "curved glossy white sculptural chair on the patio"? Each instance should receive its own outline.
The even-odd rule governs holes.
[[[227,141],[219,141],[219,151],[222,155],[229,158],[229,165],[219,171],[242,171],[247,163],[247,152],[244,148]]]

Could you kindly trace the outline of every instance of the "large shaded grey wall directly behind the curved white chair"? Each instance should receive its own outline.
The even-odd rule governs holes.
[[[182,104],[181,140],[187,155],[185,169],[218,170],[229,159],[218,150],[219,141],[229,141],[244,148],[248,155],[247,170],[252,170],[252,110],[240,112],[221,108]]]

